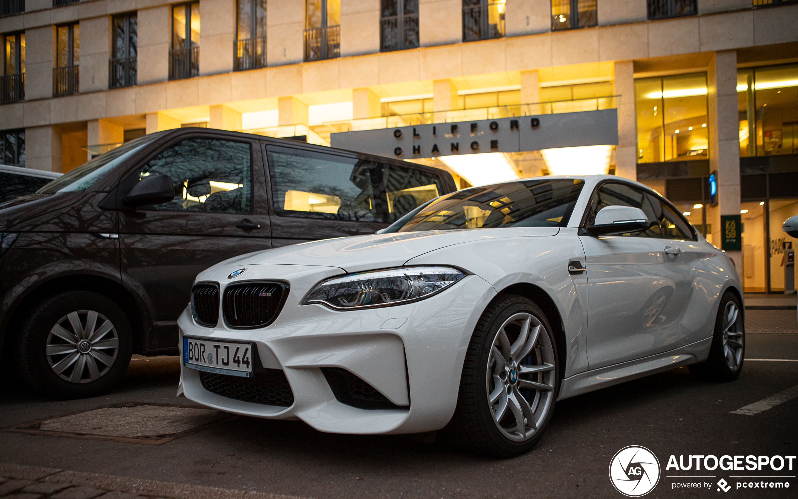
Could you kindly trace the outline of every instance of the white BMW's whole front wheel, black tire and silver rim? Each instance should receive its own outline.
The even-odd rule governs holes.
[[[540,307],[524,296],[499,295],[474,329],[444,437],[493,457],[527,452],[554,412],[558,368],[555,338]]]

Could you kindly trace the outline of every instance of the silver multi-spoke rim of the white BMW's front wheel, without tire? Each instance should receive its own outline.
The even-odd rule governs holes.
[[[505,438],[523,442],[543,424],[554,404],[554,348],[534,315],[512,315],[493,339],[486,385],[493,422]]]

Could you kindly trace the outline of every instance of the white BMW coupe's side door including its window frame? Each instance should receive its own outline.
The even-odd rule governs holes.
[[[652,228],[619,236],[579,236],[587,268],[587,357],[590,368],[646,357],[678,335],[685,275],[662,239],[662,208],[630,184],[606,182],[591,196],[584,225],[601,208],[633,206]]]

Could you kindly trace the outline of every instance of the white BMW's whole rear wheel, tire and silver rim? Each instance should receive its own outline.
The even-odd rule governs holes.
[[[734,381],[745,361],[745,323],[740,300],[726,292],[717,308],[709,357],[689,366],[690,374],[711,381]]]

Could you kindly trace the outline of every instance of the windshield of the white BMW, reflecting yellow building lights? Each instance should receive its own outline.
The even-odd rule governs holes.
[[[580,179],[519,180],[468,188],[433,200],[386,232],[564,227],[584,184]]]

